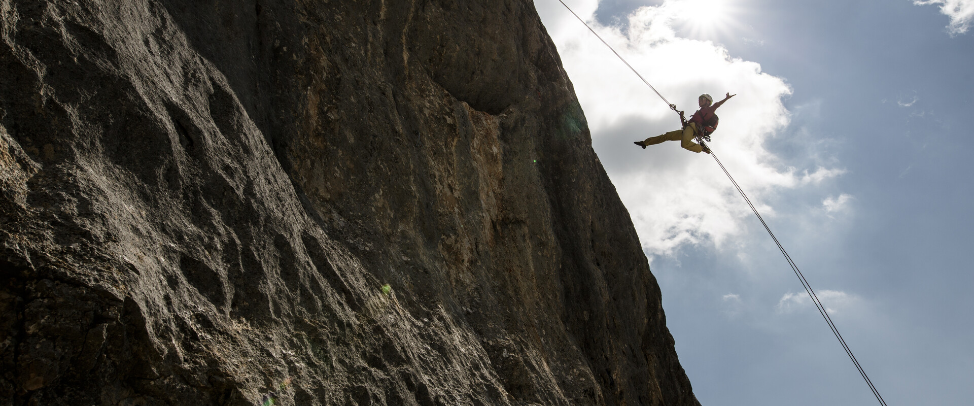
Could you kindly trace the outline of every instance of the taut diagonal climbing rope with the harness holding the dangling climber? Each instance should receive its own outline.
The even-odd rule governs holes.
[[[565,2],[562,0],[558,0],[558,2],[561,3],[562,6],[565,6],[565,8],[568,9],[568,11],[572,13],[572,15],[575,16],[575,18],[578,18],[581,21],[581,23],[584,24],[585,27],[592,32],[592,34],[595,34],[595,37],[598,38],[599,41],[602,41],[602,44],[605,44],[605,46],[609,48],[609,50],[612,51],[613,54],[616,54],[616,56],[618,56],[618,58],[622,60],[622,63],[625,63],[625,65],[628,66],[629,69],[636,74],[636,76],[639,76],[639,79],[643,80],[643,83],[645,83],[646,86],[649,86],[650,89],[653,90],[653,92],[656,92],[656,95],[658,95],[659,98],[663,99],[663,101],[669,106],[671,110],[679,114],[680,124],[682,124],[684,128],[688,126],[687,119],[684,117],[684,112],[677,110],[675,104],[670,103],[668,100],[666,100],[666,97],[663,97],[662,94],[657,92],[656,88],[654,88],[653,85],[650,85],[650,82],[647,81],[646,78],[643,78],[643,75],[640,75],[639,72],[637,72],[636,69],[633,68],[632,65],[630,65],[629,62],[625,60],[625,58],[623,58],[621,55],[618,55],[616,50],[614,50],[605,40],[603,40],[602,37],[599,36],[599,34],[595,32],[594,29],[592,29],[592,27],[588,26],[588,23],[586,23],[583,19],[581,19],[581,17],[579,17],[579,15],[575,14],[575,12],[572,11],[571,7],[568,7],[568,5],[565,4]],[[716,128],[717,127],[716,124],[713,127]],[[795,273],[795,276],[798,277],[799,280],[802,282],[802,286],[805,288],[805,293],[808,294],[808,297],[811,298],[811,301],[815,304],[815,308],[818,309],[818,313],[822,314],[822,317],[825,319],[825,322],[829,324],[829,329],[832,330],[832,334],[835,335],[836,339],[839,340],[839,343],[842,344],[845,354],[848,355],[849,359],[852,360],[852,363],[855,364],[856,369],[859,371],[859,375],[862,375],[863,380],[866,381],[866,385],[868,385],[870,390],[873,391],[873,394],[876,396],[876,399],[880,401],[880,405],[886,406],[886,401],[882,399],[882,396],[880,395],[880,390],[873,385],[873,382],[869,379],[869,376],[866,375],[866,371],[862,368],[862,365],[859,364],[859,360],[856,359],[855,355],[852,354],[852,350],[850,350],[848,345],[845,343],[845,339],[843,338],[843,335],[839,333],[839,328],[836,327],[835,322],[832,321],[832,317],[830,317],[829,313],[825,310],[825,306],[823,306],[822,302],[818,300],[818,295],[815,294],[815,291],[811,288],[811,285],[808,283],[808,280],[805,279],[805,275],[802,274],[802,271],[799,270],[798,265],[796,265],[795,261],[792,260],[791,255],[788,255],[788,251],[785,250],[785,247],[781,245],[781,242],[778,241],[777,237],[774,236],[774,233],[771,232],[771,228],[768,227],[768,223],[765,222],[765,218],[761,216],[761,213],[758,212],[758,208],[755,207],[753,203],[751,203],[751,200],[747,197],[747,194],[744,193],[744,190],[740,188],[740,185],[738,185],[737,181],[734,180],[733,176],[731,176],[731,172],[728,171],[727,167],[724,167],[724,164],[721,163],[721,160],[717,159],[717,155],[714,154],[713,151],[711,151],[710,148],[705,143],[705,141],[706,142],[710,141],[709,134],[703,134],[701,133],[703,132],[702,130],[696,131],[695,129],[694,132],[696,132],[696,136],[695,136],[696,141],[700,144],[700,146],[704,149],[704,151],[708,151],[710,153],[710,156],[714,157],[714,161],[717,162],[717,165],[721,166],[721,170],[724,171],[724,174],[728,175],[728,179],[731,179],[731,184],[733,184],[734,189],[736,189],[737,192],[740,193],[740,196],[744,198],[744,202],[746,202],[747,205],[751,207],[751,210],[754,211],[754,215],[758,217],[758,220],[761,221],[761,225],[764,226],[765,230],[768,232],[768,236],[771,237],[771,240],[774,240],[774,244],[778,246],[779,250],[781,250],[781,254],[784,255],[785,260],[788,261],[788,265]]]

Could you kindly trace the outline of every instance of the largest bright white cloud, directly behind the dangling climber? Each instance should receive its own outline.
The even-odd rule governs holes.
[[[791,88],[762,72],[759,63],[733,57],[720,45],[677,36],[674,26],[692,16],[690,0],[642,7],[629,16],[624,31],[594,20],[597,0],[566,3],[688,116],[700,93],[715,99],[725,92],[737,94],[717,111],[721,126],[711,146],[762,215],[774,215],[764,203],[770,195],[844,172],[789,167],[765,148],[765,141],[789,124],[782,100]],[[710,156],[693,154],[673,141],[646,150],[632,145],[678,129],[677,115],[561,4],[539,2],[536,7],[572,79],[596,151],[647,253],[674,255],[685,244],[725,248],[742,243],[735,237],[744,234],[753,214]]]

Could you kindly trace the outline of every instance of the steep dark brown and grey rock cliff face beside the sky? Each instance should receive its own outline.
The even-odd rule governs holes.
[[[698,405],[530,1],[0,18],[0,404]]]

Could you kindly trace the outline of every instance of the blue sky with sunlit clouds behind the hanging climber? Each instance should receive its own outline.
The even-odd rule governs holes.
[[[714,153],[889,405],[974,404],[974,0],[564,0]],[[879,404],[679,119],[557,0],[558,47],[703,405]]]

